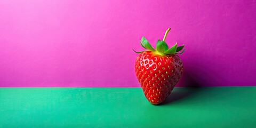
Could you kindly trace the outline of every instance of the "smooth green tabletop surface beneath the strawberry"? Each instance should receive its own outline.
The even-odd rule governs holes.
[[[1,87],[0,127],[256,127],[256,86],[175,87],[157,106],[137,87]]]

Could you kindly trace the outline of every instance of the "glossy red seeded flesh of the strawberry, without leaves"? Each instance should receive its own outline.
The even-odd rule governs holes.
[[[163,102],[178,83],[183,63],[178,55],[159,55],[145,51],[135,61],[135,74],[147,100],[154,105]]]

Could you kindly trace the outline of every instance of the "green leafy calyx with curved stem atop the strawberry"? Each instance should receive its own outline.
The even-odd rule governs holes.
[[[141,53],[141,52],[145,52],[145,51],[152,51],[152,52],[154,52],[156,54],[159,54],[159,55],[182,54],[185,51],[185,49],[183,49],[184,46],[185,46],[184,44],[182,46],[177,47],[177,43],[175,43],[169,49],[169,46],[164,42],[164,40],[166,38],[166,35],[169,32],[169,30],[170,30],[170,28],[166,30],[163,41],[160,41],[159,39],[157,40],[156,49],[154,49],[154,47],[151,46],[151,44],[148,42],[148,40],[144,36],[142,36],[140,44],[146,50],[140,51],[140,52],[137,52],[137,51],[134,51],[134,50],[133,51],[136,52],[136,53]],[[178,53],[179,51],[181,51],[181,52]]]

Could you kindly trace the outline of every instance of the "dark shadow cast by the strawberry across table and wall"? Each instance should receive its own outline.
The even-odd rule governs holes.
[[[222,84],[223,78],[215,71],[214,67],[203,65],[207,60],[195,58],[198,62],[187,62],[184,67],[184,73],[179,81],[182,87],[174,87],[173,91],[166,100],[159,105],[168,105],[172,103],[188,102],[199,93],[211,93],[209,86],[218,86]],[[217,77],[218,76],[218,77]]]

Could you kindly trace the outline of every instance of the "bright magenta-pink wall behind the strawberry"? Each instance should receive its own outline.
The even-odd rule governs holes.
[[[178,86],[256,85],[256,1],[0,1],[0,86],[130,86],[141,36],[185,44]]]

